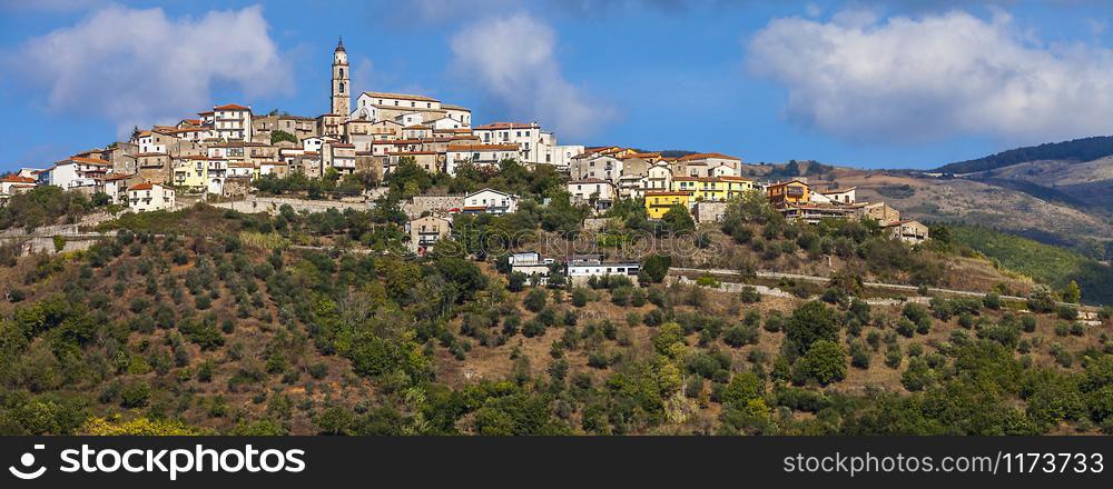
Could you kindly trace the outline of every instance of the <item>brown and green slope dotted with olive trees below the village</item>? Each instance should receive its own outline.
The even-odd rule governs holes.
[[[861,277],[1025,282],[945,243],[789,223],[762,202],[732,206],[710,241],[649,228],[641,242],[732,270],[819,272],[827,253],[829,282],[737,278],[781,291],[760,296],[713,277],[534,288],[500,272],[487,238],[539,244],[578,212],[561,199],[459,216],[456,239],[422,258],[401,251],[390,198],[107,222],[118,233],[87,251],[0,268],[0,433],[134,420],[234,435],[1113,432],[1113,310],[1082,322],[1040,290],[1030,303],[878,293]],[[646,222],[632,207],[614,217],[617,233]]]

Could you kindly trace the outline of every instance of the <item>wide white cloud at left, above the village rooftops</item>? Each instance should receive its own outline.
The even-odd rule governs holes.
[[[47,90],[48,108],[102,117],[119,136],[211,107],[215,83],[238,87],[247,100],[293,89],[258,6],[180,19],[110,6],[12,56],[26,68],[22,81]]]

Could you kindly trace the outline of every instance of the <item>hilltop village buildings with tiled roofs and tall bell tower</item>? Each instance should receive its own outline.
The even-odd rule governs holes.
[[[697,223],[710,223],[722,219],[729,201],[761,192],[790,219],[869,218],[907,242],[928,237],[926,226],[902,220],[884,202],[859,201],[855,188],[811,187],[804,177],[761,181],[743,176],[737,157],[559,144],[556,134],[538,122],[473,124],[471,109],[418,94],[364,91],[353,101],[343,40],[331,69],[328,113],[258,114],[247,106],[215,106],[174,126],[136,128],[128,141],[46,168],[22,168],[0,179],[0,201],[55,186],[102,196],[125,211],[148,212],[253,198],[262,181],[295,174],[331,181],[358,176],[374,187],[403,166],[454,177],[462,168],[498,169],[514,161],[529,169],[551,167],[562,176],[570,200],[594,214],[629,200],[644,206],[651,220],[680,208]],[[370,201],[375,194],[374,188],[364,189],[353,198]],[[414,196],[406,207],[410,248],[421,255],[447,236],[452,214],[511,213],[520,200],[501,188]]]

